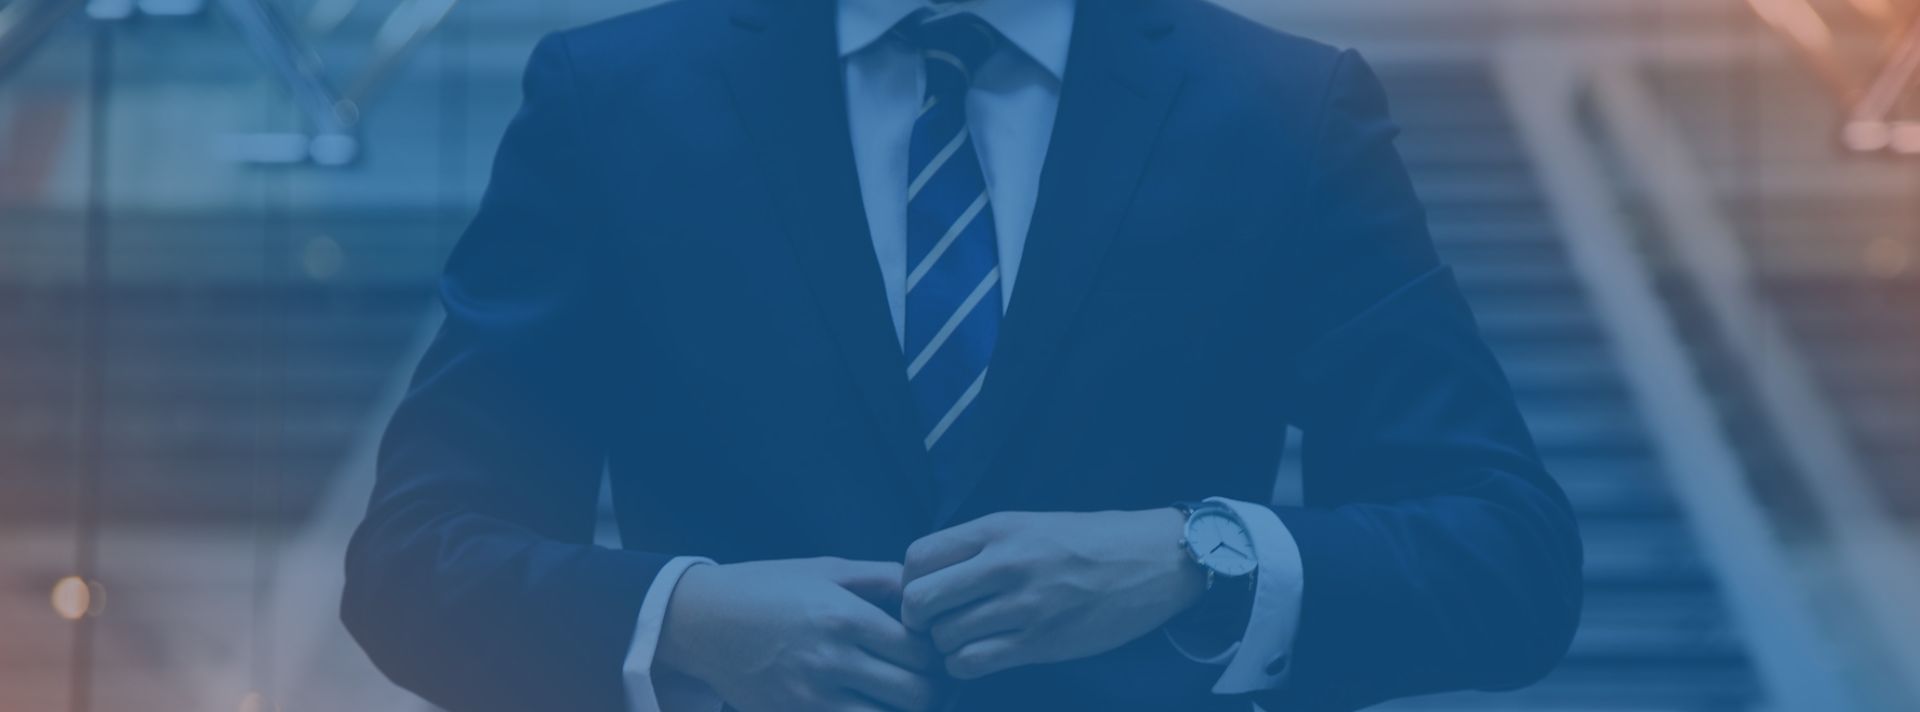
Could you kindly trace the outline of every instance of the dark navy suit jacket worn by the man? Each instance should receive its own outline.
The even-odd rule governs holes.
[[[545,38],[445,326],[386,434],[344,618],[449,710],[620,710],[674,555],[899,560],[993,510],[1267,501],[1306,593],[1273,710],[1513,687],[1580,545],[1352,52],[1200,0],[1083,2],[1020,288],[937,499],[860,205],[833,4],[682,0]],[[595,549],[605,472],[624,551]],[[1171,543],[1169,543],[1171,545]],[[1244,710],[1164,635],[962,710]]]

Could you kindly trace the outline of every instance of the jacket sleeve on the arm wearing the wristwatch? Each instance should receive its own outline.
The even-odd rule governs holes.
[[[1440,265],[1352,52],[1325,100],[1290,365],[1304,566],[1288,683],[1269,710],[1348,710],[1544,677],[1580,614],[1580,537],[1478,326]]]

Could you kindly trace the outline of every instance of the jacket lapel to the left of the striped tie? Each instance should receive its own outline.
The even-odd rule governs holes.
[[[833,2],[739,0],[726,77],[758,152],[801,271],[900,472],[931,505],[927,453],[914,430],[906,359],[866,225],[847,125]]]

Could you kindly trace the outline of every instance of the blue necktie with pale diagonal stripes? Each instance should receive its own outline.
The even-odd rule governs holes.
[[[1000,257],[987,178],[968,131],[973,71],[1000,35],[972,13],[922,12],[899,27],[920,48],[927,94],[908,148],[906,376],[922,441],[947,461],[943,438],[966,418],[1000,334]]]

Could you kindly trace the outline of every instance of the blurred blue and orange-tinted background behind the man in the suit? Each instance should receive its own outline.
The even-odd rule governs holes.
[[[0,0],[0,710],[426,710],[371,447],[534,40],[645,4]],[[1225,4],[1379,65],[1586,532],[1553,677],[1396,706],[1920,710],[1920,2]]]

